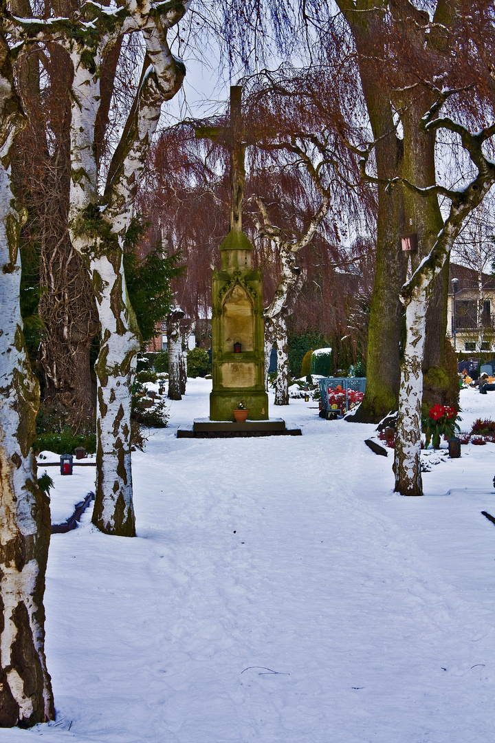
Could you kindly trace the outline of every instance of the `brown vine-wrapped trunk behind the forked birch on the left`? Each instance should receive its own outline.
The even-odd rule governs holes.
[[[30,16],[29,6],[22,5],[19,15]],[[63,3],[59,12],[65,12]],[[88,271],[68,236],[70,62],[59,45],[49,48],[45,64],[50,85],[42,96],[36,53],[27,54],[19,63],[28,124],[18,137],[13,166],[29,212],[26,238],[39,246],[39,284],[44,293],[38,314],[45,328],[37,363],[44,377],[43,395],[47,409],[76,433],[94,426],[89,352],[98,325]],[[47,143],[48,129],[56,137],[54,152]]]

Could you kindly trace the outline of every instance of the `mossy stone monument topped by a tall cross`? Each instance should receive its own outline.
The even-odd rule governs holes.
[[[254,143],[242,121],[242,88],[230,88],[230,126],[198,127],[197,137],[222,142],[230,154],[230,230],[220,245],[221,267],[212,279],[210,420],[234,421],[240,403],[250,421],[268,420],[265,390],[263,282],[252,267],[252,244],[242,231],[244,152]]]

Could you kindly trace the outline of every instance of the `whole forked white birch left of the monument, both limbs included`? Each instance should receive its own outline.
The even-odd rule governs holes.
[[[139,330],[125,289],[122,249],[161,104],[174,96],[185,74],[182,62],[168,47],[167,32],[180,21],[189,4],[190,0],[129,0],[110,9],[88,1],[68,18],[15,19],[26,42],[44,43],[49,39],[62,45],[73,66],[69,233],[90,273],[101,337],[95,366],[97,475],[93,521],[102,531],[121,536],[135,534],[130,412],[131,381],[140,348]],[[119,37],[132,32],[142,34],[145,60],[101,196],[95,146],[100,74],[105,56]]]

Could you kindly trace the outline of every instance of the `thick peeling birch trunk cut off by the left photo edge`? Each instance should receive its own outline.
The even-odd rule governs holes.
[[[30,727],[54,717],[43,608],[50,505],[39,490],[31,450],[39,386],[22,334],[23,216],[13,206],[10,181],[10,149],[22,126],[0,25],[0,727]]]

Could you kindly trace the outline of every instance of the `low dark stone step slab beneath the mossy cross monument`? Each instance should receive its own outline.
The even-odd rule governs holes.
[[[177,438],[248,438],[249,436],[301,436],[300,428],[287,428],[282,418],[269,421],[211,421],[197,418],[194,425],[180,428]]]

